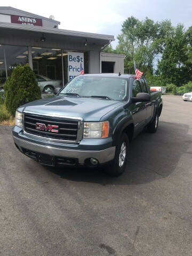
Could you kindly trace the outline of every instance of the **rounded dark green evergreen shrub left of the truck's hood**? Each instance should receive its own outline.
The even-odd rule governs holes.
[[[4,86],[5,105],[9,113],[15,116],[15,110],[30,101],[41,99],[33,70],[28,65],[17,66]]]

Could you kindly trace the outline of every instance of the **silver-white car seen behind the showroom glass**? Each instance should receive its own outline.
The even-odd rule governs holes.
[[[43,75],[35,75],[38,86],[42,93],[53,94],[58,93],[62,87],[62,80],[51,80]]]

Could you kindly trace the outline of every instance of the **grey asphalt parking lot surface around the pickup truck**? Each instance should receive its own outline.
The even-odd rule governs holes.
[[[192,103],[163,103],[118,178],[39,165],[0,126],[0,255],[192,255]]]

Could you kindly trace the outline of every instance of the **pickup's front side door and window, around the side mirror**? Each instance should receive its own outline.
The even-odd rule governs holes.
[[[140,82],[137,80],[133,80],[132,97],[136,97],[139,92],[142,92]],[[145,102],[132,103],[132,115],[135,133],[139,133],[146,124]]]

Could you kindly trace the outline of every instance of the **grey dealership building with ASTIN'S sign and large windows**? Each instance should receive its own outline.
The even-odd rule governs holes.
[[[124,55],[103,53],[114,36],[59,29],[60,22],[0,7],[0,86],[17,65],[66,84],[84,73],[123,73]]]

